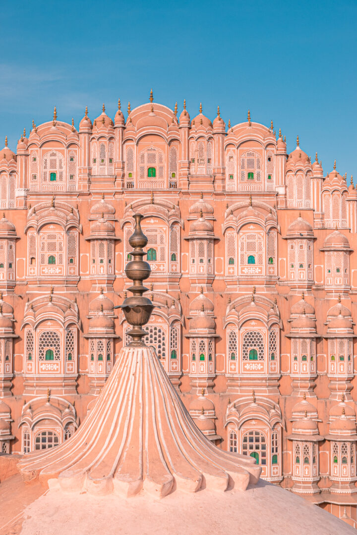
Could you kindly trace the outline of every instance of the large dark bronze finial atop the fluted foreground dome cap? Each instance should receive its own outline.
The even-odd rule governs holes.
[[[142,295],[144,292],[148,292],[148,288],[142,285],[142,281],[147,279],[151,273],[150,264],[142,259],[146,255],[142,248],[148,242],[147,237],[141,230],[140,222],[142,218],[141,213],[134,214],[134,233],[129,238],[129,243],[133,247],[131,255],[134,259],[128,262],[125,268],[126,276],[133,281],[133,286],[128,288],[133,295],[126,297],[123,304],[115,307],[123,309],[126,321],[133,326],[127,334],[130,334],[133,339],[129,346],[135,347],[145,346],[141,339],[146,336],[147,332],[143,330],[142,325],[148,323],[154,308],[150,299]]]

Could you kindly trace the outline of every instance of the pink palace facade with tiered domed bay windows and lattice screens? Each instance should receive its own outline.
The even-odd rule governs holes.
[[[2,453],[56,446],[90,411],[129,338],[113,307],[140,212],[146,342],[195,423],[356,521],[357,192],[336,164],[151,93],[6,141],[0,204]]]

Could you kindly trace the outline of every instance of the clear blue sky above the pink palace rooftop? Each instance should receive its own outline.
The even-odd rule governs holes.
[[[357,2],[9,2],[2,3],[0,147],[15,150],[24,127],[52,118],[94,119],[118,97],[126,113],[184,98],[193,117],[217,104],[232,124],[282,128],[287,148],[336,158],[357,179]]]

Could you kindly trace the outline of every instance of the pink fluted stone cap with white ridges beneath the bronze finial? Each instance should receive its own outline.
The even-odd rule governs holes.
[[[125,347],[73,437],[26,456],[19,469],[25,480],[58,478],[65,490],[162,497],[176,488],[244,490],[260,476],[254,462],[204,437],[153,349]]]

